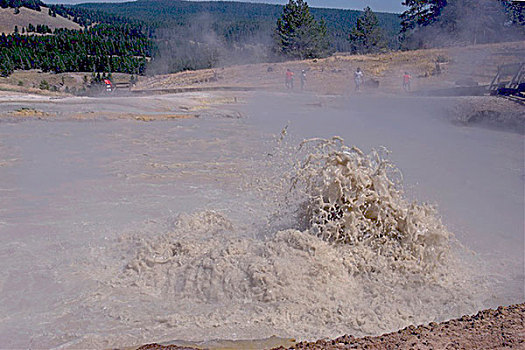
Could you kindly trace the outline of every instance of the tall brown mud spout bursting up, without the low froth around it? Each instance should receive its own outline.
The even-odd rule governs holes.
[[[431,272],[448,253],[450,234],[429,205],[403,198],[401,173],[380,152],[364,155],[343,140],[309,140],[316,146],[301,165],[310,232],[325,241],[365,247],[368,258],[393,270]],[[310,147],[312,148],[312,147]],[[386,150],[383,150],[387,153]],[[373,259],[373,260],[376,260]]]

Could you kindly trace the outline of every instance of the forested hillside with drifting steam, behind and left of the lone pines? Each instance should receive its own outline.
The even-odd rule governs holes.
[[[15,16],[21,7],[44,8],[49,16],[62,16],[82,28],[29,24],[3,35],[4,76],[15,69],[156,74],[279,59],[272,51],[283,10],[278,5],[139,0],[45,8],[40,0],[0,0],[0,6],[13,8]],[[361,11],[312,8],[311,13],[326,23],[334,50],[350,50],[349,33]],[[377,17],[390,47],[397,48],[398,16]]]

